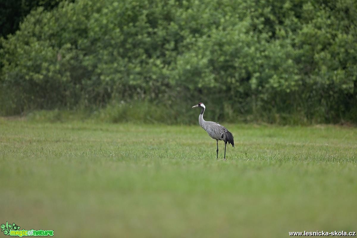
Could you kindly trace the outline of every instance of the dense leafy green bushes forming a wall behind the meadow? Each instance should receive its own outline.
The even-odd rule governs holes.
[[[62,2],[1,40],[0,113],[135,101],[188,123],[203,101],[215,121],[357,123],[356,28],[354,0]]]

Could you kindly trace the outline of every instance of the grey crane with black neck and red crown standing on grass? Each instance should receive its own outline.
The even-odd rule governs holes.
[[[213,122],[213,121],[205,121],[203,119],[203,112],[205,112],[206,106],[200,102],[196,106],[193,107],[200,107],[201,108],[201,113],[200,116],[198,117],[198,123],[200,123],[200,126],[207,131],[208,135],[217,141],[217,159],[218,159],[218,141],[224,141],[224,160],[226,160],[226,147],[227,147],[227,142],[228,144],[232,144],[232,147],[234,148],[234,140],[233,140],[233,135],[231,132],[229,132],[224,126]],[[193,108],[192,107],[192,108]]]

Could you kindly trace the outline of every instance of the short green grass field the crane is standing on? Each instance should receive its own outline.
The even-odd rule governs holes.
[[[235,148],[216,161],[198,125],[0,118],[0,224],[55,237],[357,231],[357,128],[225,126]]]

